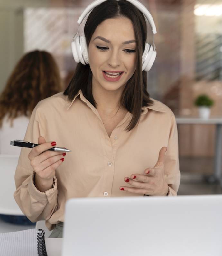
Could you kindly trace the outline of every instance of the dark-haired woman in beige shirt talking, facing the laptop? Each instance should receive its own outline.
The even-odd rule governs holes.
[[[143,14],[128,1],[105,1],[84,34],[89,64],[78,63],[64,93],[36,106],[25,138],[41,145],[22,148],[15,174],[15,200],[30,220],[54,228],[51,237],[62,237],[69,198],[176,195],[180,184],[174,114],[149,98],[141,69]],[[47,151],[55,145],[71,152]]]

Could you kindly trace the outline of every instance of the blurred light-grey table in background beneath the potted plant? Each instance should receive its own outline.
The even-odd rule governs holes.
[[[214,175],[212,181],[219,181],[222,185],[222,116],[210,117],[209,119],[201,119],[198,117],[176,117],[177,124],[215,124],[215,157],[214,157]]]

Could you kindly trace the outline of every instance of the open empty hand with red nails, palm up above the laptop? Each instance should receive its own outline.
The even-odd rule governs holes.
[[[162,147],[159,152],[159,158],[154,168],[145,169],[145,175],[132,174],[125,177],[124,181],[133,187],[121,186],[119,189],[136,194],[146,195],[167,195],[168,184],[164,179],[164,162],[167,147]]]

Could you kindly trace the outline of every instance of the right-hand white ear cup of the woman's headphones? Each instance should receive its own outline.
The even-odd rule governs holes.
[[[145,44],[145,49],[142,56],[142,71],[149,71],[156,59],[156,51],[153,51],[153,46],[149,43]]]

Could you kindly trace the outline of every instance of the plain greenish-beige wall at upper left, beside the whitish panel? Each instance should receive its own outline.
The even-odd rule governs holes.
[[[24,53],[23,10],[31,6],[49,6],[49,0],[0,1],[0,93],[15,64]]]

